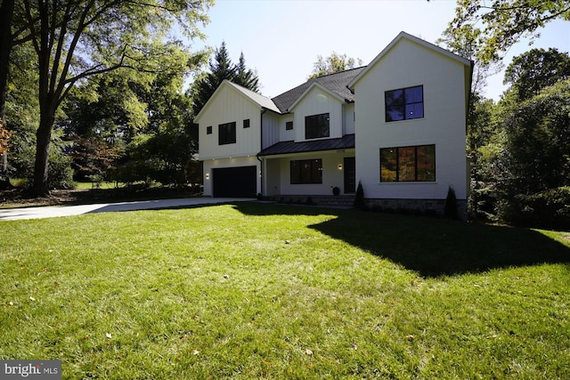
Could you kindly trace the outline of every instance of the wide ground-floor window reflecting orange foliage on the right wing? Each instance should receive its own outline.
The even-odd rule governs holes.
[[[434,181],[436,181],[436,145],[380,150],[380,182]]]

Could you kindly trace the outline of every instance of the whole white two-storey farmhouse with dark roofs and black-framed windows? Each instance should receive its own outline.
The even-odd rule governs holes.
[[[468,198],[471,62],[400,33],[371,63],[269,99],[224,81],[196,117],[204,195],[354,195],[441,212]]]

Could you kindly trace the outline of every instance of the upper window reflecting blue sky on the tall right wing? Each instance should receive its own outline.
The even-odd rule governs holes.
[[[424,86],[387,91],[386,121],[410,120],[424,117]]]

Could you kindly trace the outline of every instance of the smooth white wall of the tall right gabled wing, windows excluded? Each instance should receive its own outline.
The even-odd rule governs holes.
[[[356,181],[365,198],[467,198],[465,65],[401,39],[355,84]],[[423,85],[424,117],[386,122],[385,92]],[[436,145],[436,182],[380,182],[380,148]]]

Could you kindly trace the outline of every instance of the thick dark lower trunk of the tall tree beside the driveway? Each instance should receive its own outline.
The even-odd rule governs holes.
[[[55,110],[40,104],[39,128],[37,128],[36,163],[34,165],[33,192],[37,197],[49,194],[47,186],[48,158],[52,141]]]

